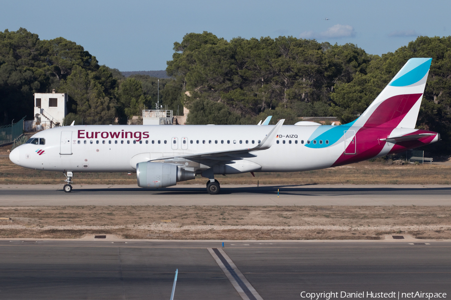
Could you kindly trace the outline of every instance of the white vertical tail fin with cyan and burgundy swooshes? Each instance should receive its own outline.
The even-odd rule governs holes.
[[[353,125],[415,128],[432,58],[410,58]]]

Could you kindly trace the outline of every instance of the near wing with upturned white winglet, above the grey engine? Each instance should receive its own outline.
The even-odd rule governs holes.
[[[281,119],[277,124],[271,129],[271,131],[265,136],[265,138],[255,147],[253,148],[243,148],[237,150],[224,150],[224,151],[215,151],[215,152],[205,152],[205,153],[195,153],[195,154],[186,154],[186,155],[177,155],[177,156],[165,156],[159,157],[155,160],[192,160],[196,162],[201,162],[206,165],[213,165],[222,161],[231,161],[237,159],[243,159],[246,157],[255,157],[256,155],[252,154],[253,151],[265,150],[269,149],[271,145],[274,143],[276,139],[276,135],[282,127],[285,119]]]

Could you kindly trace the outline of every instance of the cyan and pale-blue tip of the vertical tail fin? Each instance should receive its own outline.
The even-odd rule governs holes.
[[[407,86],[414,84],[421,80],[427,73],[430,67],[432,58],[411,58],[406,63],[404,69],[399,71],[393,80],[390,82],[391,86]],[[424,61],[424,62],[423,62]],[[422,62],[420,64],[420,62]]]

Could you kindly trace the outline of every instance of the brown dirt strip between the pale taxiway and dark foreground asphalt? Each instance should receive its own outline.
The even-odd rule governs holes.
[[[139,239],[451,238],[444,206],[0,207],[0,237]]]

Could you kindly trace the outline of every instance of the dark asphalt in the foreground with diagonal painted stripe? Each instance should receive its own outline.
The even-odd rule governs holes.
[[[302,292],[324,291],[451,293],[451,242],[447,241],[227,241],[224,245],[220,241],[0,240],[0,293],[3,299],[168,299],[178,269],[174,299],[242,299],[226,274],[229,270],[224,272],[210,253],[214,249],[229,257],[231,271],[250,284],[256,299],[300,299]]]

